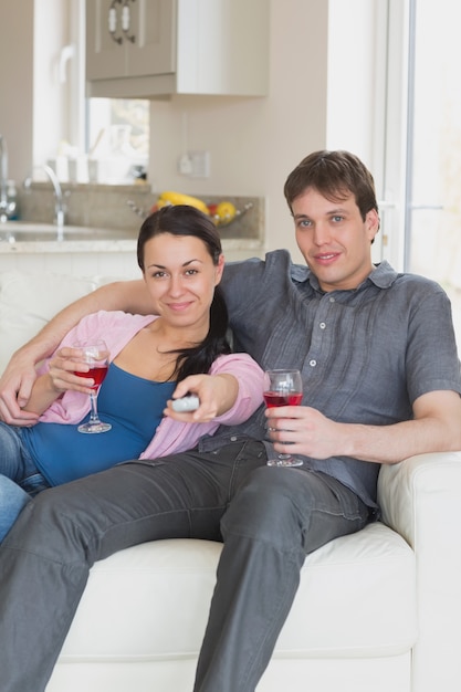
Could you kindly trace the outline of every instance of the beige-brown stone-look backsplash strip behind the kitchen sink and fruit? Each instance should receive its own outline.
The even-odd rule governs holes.
[[[128,186],[62,184],[65,196],[66,223],[126,230],[127,238],[137,238],[142,217],[128,206],[130,200],[145,214],[156,202],[146,184]],[[186,193],[187,191],[184,190]],[[198,197],[195,195],[195,197]],[[203,196],[206,203],[231,201],[238,210],[251,205],[251,209],[235,217],[227,227],[220,228],[224,239],[245,238],[261,240],[264,235],[264,199],[259,197]],[[51,223],[54,217],[54,195],[46,182],[33,182],[30,190],[19,191],[20,219],[38,223]]]

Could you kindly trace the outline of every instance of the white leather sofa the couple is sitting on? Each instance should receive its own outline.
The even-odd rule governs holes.
[[[104,281],[0,274],[0,368]],[[306,559],[258,692],[461,689],[461,453],[383,468],[379,502],[383,523]],[[96,564],[48,692],[190,692],[219,553],[174,539]]]

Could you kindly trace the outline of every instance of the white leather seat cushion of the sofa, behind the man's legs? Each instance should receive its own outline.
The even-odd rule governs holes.
[[[97,563],[61,662],[196,657],[220,551],[206,541],[158,541]],[[384,524],[332,541],[306,559],[275,656],[409,651],[417,631],[415,594],[415,555]]]

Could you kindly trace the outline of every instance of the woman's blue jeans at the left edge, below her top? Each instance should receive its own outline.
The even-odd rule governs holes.
[[[0,543],[19,513],[49,487],[23,442],[24,430],[0,421]]]

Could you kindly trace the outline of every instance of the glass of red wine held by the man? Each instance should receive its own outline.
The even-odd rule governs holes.
[[[300,406],[303,398],[303,380],[300,370],[266,370],[264,373],[264,401],[268,408]],[[303,460],[291,454],[277,454],[269,459],[270,466],[301,466]]]

